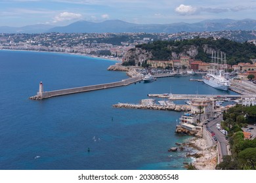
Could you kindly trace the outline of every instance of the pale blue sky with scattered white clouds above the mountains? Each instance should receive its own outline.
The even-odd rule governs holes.
[[[256,20],[256,0],[0,0],[0,26],[68,25],[78,20],[123,20],[136,24]]]

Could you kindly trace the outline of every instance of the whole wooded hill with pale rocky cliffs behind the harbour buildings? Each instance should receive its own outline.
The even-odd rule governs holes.
[[[189,56],[192,59],[200,59],[210,62],[212,52],[226,53],[227,63],[235,65],[239,62],[250,62],[256,58],[256,46],[249,42],[234,42],[228,39],[213,39],[209,37],[186,39],[182,41],[155,41],[150,44],[139,44],[129,50],[125,60],[132,61],[135,58],[169,60],[179,59],[181,56]],[[141,56],[137,55],[141,54]],[[150,57],[148,57],[150,56]],[[134,60],[138,63],[139,60]]]

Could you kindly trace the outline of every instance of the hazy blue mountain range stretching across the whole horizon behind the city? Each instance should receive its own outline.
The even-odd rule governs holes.
[[[177,33],[202,32],[226,30],[256,30],[256,20],[204,20],[188,24],[184,22],[175,24],[131,24],[121,20],[106,20],[104,22],[78,21],[70,25],[55,27],[54,25],[28,25],[24,27],[0,27],[0,33]]]

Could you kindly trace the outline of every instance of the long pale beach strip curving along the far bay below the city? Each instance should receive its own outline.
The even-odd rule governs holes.
[[[109,56],[95,56],[95,55],[88,55],[88,54],[80,54],[80,53],[70,53],[70,52],[47,52],[47,51],[40,51],[40,50],[17,50],[17,49],[1,49],[4,51],[13,51],[13,52],[41,52],[41,53],[53,53],[53,54],[67,54],[67,55],[74,55],[74,56],[83,56],[87,58],[98,58],[98,59],[106,59],[109,61],[116,61],[117,63],[121,63],[121,58],[114,58]]]

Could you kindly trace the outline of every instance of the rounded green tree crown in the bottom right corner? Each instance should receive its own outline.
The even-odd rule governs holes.
[[[243,167],[256,169],[256,148],[246,148],[238,154],[238,158],[242,161]]]

